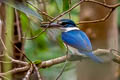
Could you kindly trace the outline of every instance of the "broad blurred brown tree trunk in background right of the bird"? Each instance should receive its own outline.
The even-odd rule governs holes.
[[[97,0],[101,1],[102,0]],[[107,4],[114,4],[115,0],[104,0]],[[95,3],[83,3],[80,10],[80,20],[96,20],[103,18],[109,10]],[[105,21],[99,23],[82,24],[81,29],[91,39],[93,50],[97,48],[118,49],[118,31],[116,11]],[[79,62],[77,66],[78,80],[116,80],[118,65],[112,61],[97,64],[91,60]]]

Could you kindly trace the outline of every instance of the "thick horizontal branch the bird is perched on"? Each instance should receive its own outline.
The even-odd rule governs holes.
[[[109,50],[107,50],[107,49],[97,49],[97,50],[93,51],[93,53],[96,56],[99,56],[101,59],[103,59],[104,63],[114,61],[114,62],[120,64],[120,56],[118,55],[118,53],[120,53],[120,52],[118,52],[117,50],[114,50],[114,49],[109,49]],[[37,64],[36,66],[40,69],[40,68],[47,68],[47,67],[51,67],[51,66],[56,65],[56,64],[63,63],[66,60],[68,60],[68,61],[78,61],[78,60],[80,60],[81,61],[81,60],[86,60],[86,59],[89,59],[89,57],[78,56],[78,55],[65,55],[65,56],[62,56],[62,57],[55,58],[55,59],[43,61],[43,62]],[[16,61],[16,60],[14,60],[14,61]],[[0,73],[0,76],[2,77],[2,76],[5,76],[9,73],[14,74],[14,73],[18,73],[18,72],[28,71],[30,69],[30,64],[28,64],[27,62],[25,62],[24,64],[25,64],[24,67],[14,68],[14,69],[12,69],[8,72]]]

